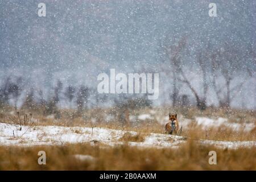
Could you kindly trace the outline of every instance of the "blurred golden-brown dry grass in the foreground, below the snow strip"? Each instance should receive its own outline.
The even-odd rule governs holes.
[[[46,151],[46,165],[38,151]],[[208,163],[217,152],[217,165]],[[178,149],[72,144],[65,146],[0,147],[0,170],[256,170],[256,148],[221,150],[197,146],[193,140]],[[90,155],[81,160],[75,155]]]

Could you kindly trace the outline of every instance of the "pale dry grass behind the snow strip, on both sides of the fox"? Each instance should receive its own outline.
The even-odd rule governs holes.
[[[172,108],[172,107],[155,107],[155,115],[152,114],[152,119],[147,119],[145,121],[129,122],[123,124],[118,122],[118,118],[115,117],[118,109],[113,107],[109,109],[89,109],[85,110],[81,115],[76,115],[74,110],[63,109],[60,110],[60,118],[56,119],[54,116],[49,117],[42,115],[40,111],[32,110],[21,110],[20,115],[26,113],[32,113],[32,122],[34,126],[41,125],[53,125],[53,126],[82,126],[82,127],[104,127],[108,129],[115,130],[125,130],[125,131],[136,131],[138,133],[160,133],[164,134],[164,126],[161,125],[155,115],[165,116],[169,112],[179,113],[178,115],[183,115],[184,118],[195,119],[195,117],[203,116],[209,118],[224,117],[228,118],[230,123],[255,123],[256,124],[256,111],[255,110],[236,110],[236,109],[220,109],[216,107],[208,107],[205,111],[197,110],[195,107],[191,108]],[[150,113],[151,109],[140,109],[132,110],[130,114],[139,115],[143,113]],[[114,117],[110,121],[106,122],[107,116],[112,114]],[[11,107],[6,107],[4,110],[0,111],[0,122],[13,123],[10,118],[14,118],[15,111]],[[158,118],[159,119],[159,118]],[[182,122],[182,121],[181,121]],[[201,126],[197,126],[195,123],[187,127],[183,127],[183,132],[181,133],[184,137],[195,137],[196,139],[209,139],[209,140],[256,140],[256,127],[247,132],[243,129],[234,131],[226,126],[221,127],[208,127],[203,129]],[[75,133],[80,133],[79,130]]]

